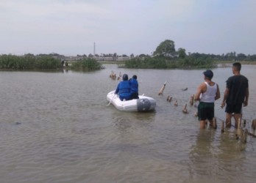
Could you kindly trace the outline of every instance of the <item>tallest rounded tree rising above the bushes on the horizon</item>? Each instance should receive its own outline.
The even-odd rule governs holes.
[[[174,57],[176,56],[174,41],[165,40],[157,46],[154,56]]]

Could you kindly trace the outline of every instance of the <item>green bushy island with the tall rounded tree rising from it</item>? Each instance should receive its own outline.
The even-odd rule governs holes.
[[[174,41],[165,40],[157,46],[153,57],[143,56],[130,59],[125,62],[127,68],[145,69],[193,69],[215,67],[214,61],[207,55],[190,54],[187,56],[184,48],[175,51]]]

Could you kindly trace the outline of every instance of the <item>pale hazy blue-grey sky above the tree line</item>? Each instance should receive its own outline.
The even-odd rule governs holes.
[[[256,54],[255,0],[0,0],[0,54]],[[95,50],[94,50],[95,45]]]

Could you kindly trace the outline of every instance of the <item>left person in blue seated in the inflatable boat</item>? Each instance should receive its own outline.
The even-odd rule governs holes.
[[[118,83],[115,94],[119,94],[120,100],[131,100],[131,86],[129,85],[128,75],[123,75],[123,81]]]

